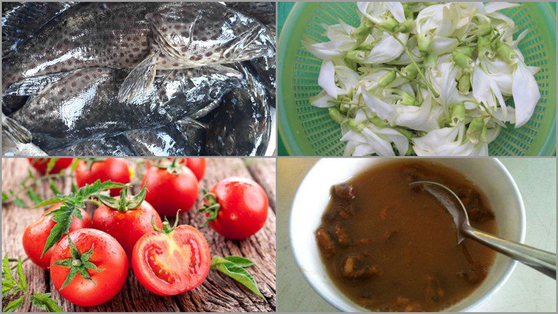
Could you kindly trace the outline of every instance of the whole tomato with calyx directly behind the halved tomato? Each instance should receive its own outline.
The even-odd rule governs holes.
[[[124,197],[127,198],[126,193]],[[96,209],[93,214],[93,228],[112,235],[124,248],[128,258],[131,258],[137,240],[146,232],[153,231],[151,219],[159,228],[163,227],[163,222],[157,211],[143,198],[137,204],[131,204],[133,200],[120,204],[120,198],[116,197],[114,204],[105,203]]]

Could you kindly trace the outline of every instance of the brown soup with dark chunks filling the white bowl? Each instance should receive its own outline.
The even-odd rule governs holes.
[[[384,163],[331,188],[316,231],[338,289],[372,311],[441,311],[484,280],[495,252],[465,239],[442,204],[413,181],[435,181],[462,200],[473,227],[497,234],[483,193],[465,176],[425,160]]]

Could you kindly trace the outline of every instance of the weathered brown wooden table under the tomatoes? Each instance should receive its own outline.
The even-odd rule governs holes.
[[[20,181],[27,176],[29,163],[26,158],[2,159],[2,190],[17,188]],[[136,174],[137,175],[137,174]],[[253,260],[256,265],[248,268],[258,283],[265,300],[257,297],[245,287],[236,283],[218,271],[211,270],[206,281],[189,292],[174,297],[160,297],[146,290],[135,278],[132,269],[128,272],[126,284],[111,301],[92,308],[82,308],[66,301],[54,289],[48,271],[41,269],[30,261],[24,262],[30,292],[52,292],[64,311],[114,311],[114,312],[269,312],[276,311],[276,162],[274,158],[208,158],[204,179],[200,187],[211,188],[217,181],[229,176],[247,177],[257,181],[269,197],[269,214],[266,225],[254,236],[241,240],[226,240],[220,234],[206,227],[202,230],[212,255],[240,255]],[[137,178],[140,179],[140,178]],[[59,189],[69,193],[72,177],[57,182]],[[137,188],[137,187],[136,187]],[[38,190],[42,197],[52,196],[47,184]],[[27,196],[26,196],[27,197]],[[22,197],[24,198],[24,197]],[[29,200],[24,198],[24,200]],[[192,210],[181,215],[180,224],[189,224],[200,228],[203,217],[197,214],[201,200]],[[29,202],[31,203],[31,202]],[[93,208],[88,209],[91,217]],[[2,257],[25,257],[22,247],[22,235],[30,223],[37,220],[43,209],[24,209],[9,204],[2,209]],[[79,276],[79,275],[78,275]],[[3,298],[6,306],[14,297]],[[29,302],[23,304],[20,312],[37,311]]]

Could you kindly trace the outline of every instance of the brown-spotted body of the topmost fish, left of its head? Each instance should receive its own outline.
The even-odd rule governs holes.
[[[149,52],[145,15],[157,3],[78,3],[2,61],[2,91],[27,77],[77,68],[130,68]]]

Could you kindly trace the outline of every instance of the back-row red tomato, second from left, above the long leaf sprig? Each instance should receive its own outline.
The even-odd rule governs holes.
[[[121,184],[130,183],[130,169],[125,158],[106,158],[96,160],[88,167],[85,160],[80,160],[75,168],[75,181],[77,186],[82,187],[86,184],[100,181],[113,181]],[[110,195],[119,195],[121,188],[110,189]]]

